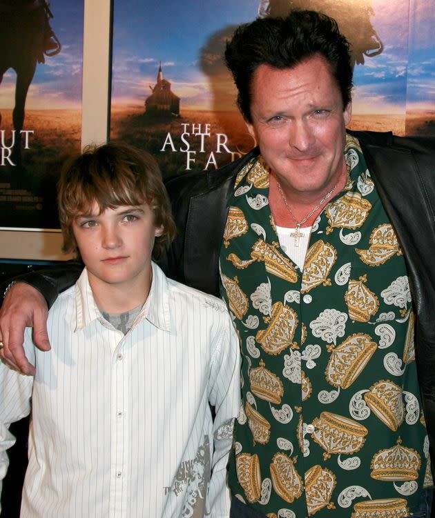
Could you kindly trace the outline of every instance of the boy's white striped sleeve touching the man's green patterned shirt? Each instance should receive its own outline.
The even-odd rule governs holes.
[[[235,419],[240,408],[240,346],[231,318],[222,312],[224,325],[211,359],[209,401],[215,408],[213,458],[209,504],[211,517],[229,516],[231,495],[226,484],[226,465],[233,446]]]

